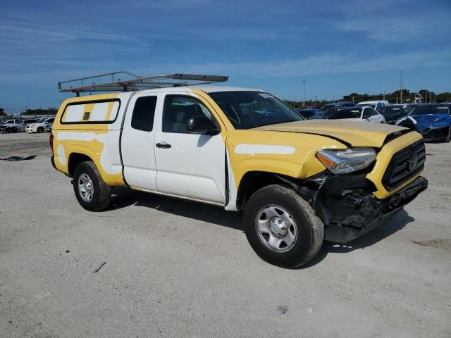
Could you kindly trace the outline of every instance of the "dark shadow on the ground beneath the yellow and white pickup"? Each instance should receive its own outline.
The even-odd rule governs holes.
[[[223,227],[230,227],[244,232],[244,227],[242,226],[242,213],[233,213],[225,211],[223,208],[209,206],[208,204],[201,204],[194,201],[186,201],[145,192],[135,192],[128,188],[114,188],[111,206],[106,210],[115,210],[132,205],[152,208],[162,213],[171,213],[173,215],[192,218],[194,220],[221,225]],[[372,246],[398,230],[401,230],[414,220],[415,219],[412,218],[412,216],[409,216],[409,214],[402,209],[399,213],[385,221],[385,224],[381,227],[364,234],[362,237],[354,239],[348,244],[324,242],[316,257],[306,265],[302,265],[300,269],[310,268],[311,266],[320,263],[326,258],[328,253],[348,253]]]

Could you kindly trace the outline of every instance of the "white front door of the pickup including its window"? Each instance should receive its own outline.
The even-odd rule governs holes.
[[[216,119],[206,102],[184,92],[168,94],[155,135],[156,184],[163,194],[226,204],[226,144],[221,134],[187,132],[190,118]]]

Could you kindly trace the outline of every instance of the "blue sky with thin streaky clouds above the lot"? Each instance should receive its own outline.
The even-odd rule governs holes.
[[[101,3],[102,2],[102,3]],[[286,99],[451,91],[451,1],[0,2],[0,107],[58,106],[112,70],[230,75]]]

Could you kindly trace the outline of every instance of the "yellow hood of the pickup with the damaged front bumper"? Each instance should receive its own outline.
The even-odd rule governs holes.
[[[407,130],[407,128],[383,123],[354,122],[350,120],[305,120],[277,125],[264,125],[254,128],[254,130],[317,134],[336,139],[346,145],[381,148],[389,134]]]

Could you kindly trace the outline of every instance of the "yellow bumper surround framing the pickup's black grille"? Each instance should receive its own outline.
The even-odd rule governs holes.
[[[419,175],[421,175],[421,173],[414,175],[412,178],[404,182],[404,184],[401,184],[400,187],[397,187],[396,189],[390,191],[385,189],[381,182],[383,174],[385,173],[385,170],[387,170],[388,163],[390,163],[393,154],[397,153],[397,151],[400,151],[401,149],[404,149],[409,144],[419,141],[422,138],[423,137],[418,132],[409,132],[408,134],[404,134],[403,136],[398,137],[397,139],[394,139],[392,142],[389,142],[388,144],[385,144],[385,146],[383,146],[381,151],[379,151],[378,156],[376,157],[376,165],[374,165],[371,173],[366,175],[366,178],[371,180],[371,182],[376,185],[377,191],[373,192],[374,196],[376,196],[378,199],[385,199],[391,194],[400,191],[400,189],[405,187],[410,182],[413,182],[416,177],[419,177]]]

